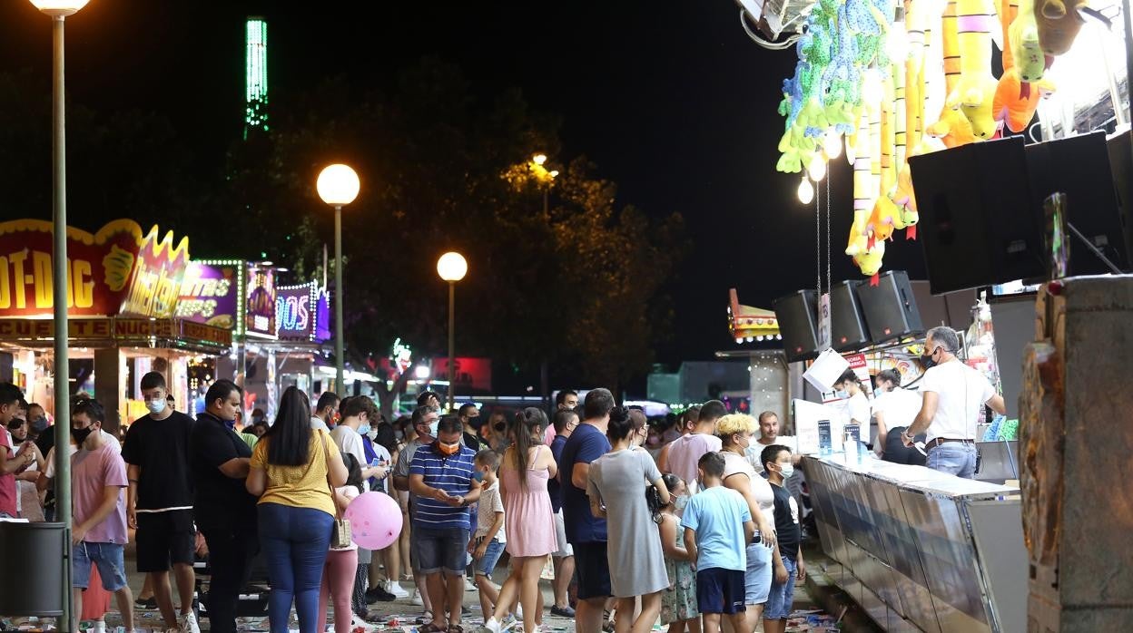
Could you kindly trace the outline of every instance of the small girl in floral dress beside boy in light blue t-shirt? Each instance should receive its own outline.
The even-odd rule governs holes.
[[[668,633],[700,633],[700,611],[697,610],[697,572],[693,558],[682,545],[681,520],[674,514],[676,499],[688,495],[684,481],[675,474],[664,474],[662,479],[668,488],[670,502],[661,505],[656,488],[648,488],[649,510],[658,515],[661,547],[665,551],[665,567],[668,571],[668,589],[661,594],[661,623],[668,625]],[[685,497],[687,499],[688,497]]]

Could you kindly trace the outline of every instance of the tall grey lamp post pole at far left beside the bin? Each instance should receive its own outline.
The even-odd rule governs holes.
[[[52,238],[54,251],[51,255],[51,288],[56,322],[54,345],[54,391],[56,391],[56,521],[66,525],[65,542],[70,544],[70,460],[63,455],[63,448],[70,445],[70,370],[67,358],[67,143],[63,110],[63,18],[54,16],[51,20],[51,34],[54,43],[53,66],[51,71],[51,209]],[[62,592],[63,613],[60,617],[60,628],[75,631],[74,605],[71,597],[70,551],[61,561],[63,566]]]

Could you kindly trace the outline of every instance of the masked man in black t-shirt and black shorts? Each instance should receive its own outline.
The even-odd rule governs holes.
[[[199,633],[193,614],[193,485],[189,478],[189,433],[193,418],[169,405],[165,377],[142,376],[142,396],[148,416],[138,418],[126,434],[122,459],[128,464],[127,519],[137,529],[138,571],[148,574],[167,628]],[[170,597],[169,568],[177,576],[181,598],[178,621]]]

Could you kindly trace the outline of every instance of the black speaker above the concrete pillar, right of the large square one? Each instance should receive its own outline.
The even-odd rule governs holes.
[[[1125,226],[1117,207],[1106,132],[1028,145],[1026,171],[1040,213],[1047,196],[1056,191],[1066,194],[1066,221],[1118,268],[1128,270]],[[1082,240],[1073,234],[1067,239],[1071,275],[1114,272]]]

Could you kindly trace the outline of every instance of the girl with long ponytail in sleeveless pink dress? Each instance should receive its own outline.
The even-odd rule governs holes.
[[[529,407],[516,413],[508,429],[512,445],[500,463],[500,496],[503,497],[504,532],[511,555],[511,575],[500,590],[495,614],[484,627],[499,633],[500,622],[519,593],[523,607],[523,631],[537,633],[539,574],[552,551],[559,549],[555,519],[547,481],[559,472],[551,448],[543,443],[547,416]]]

